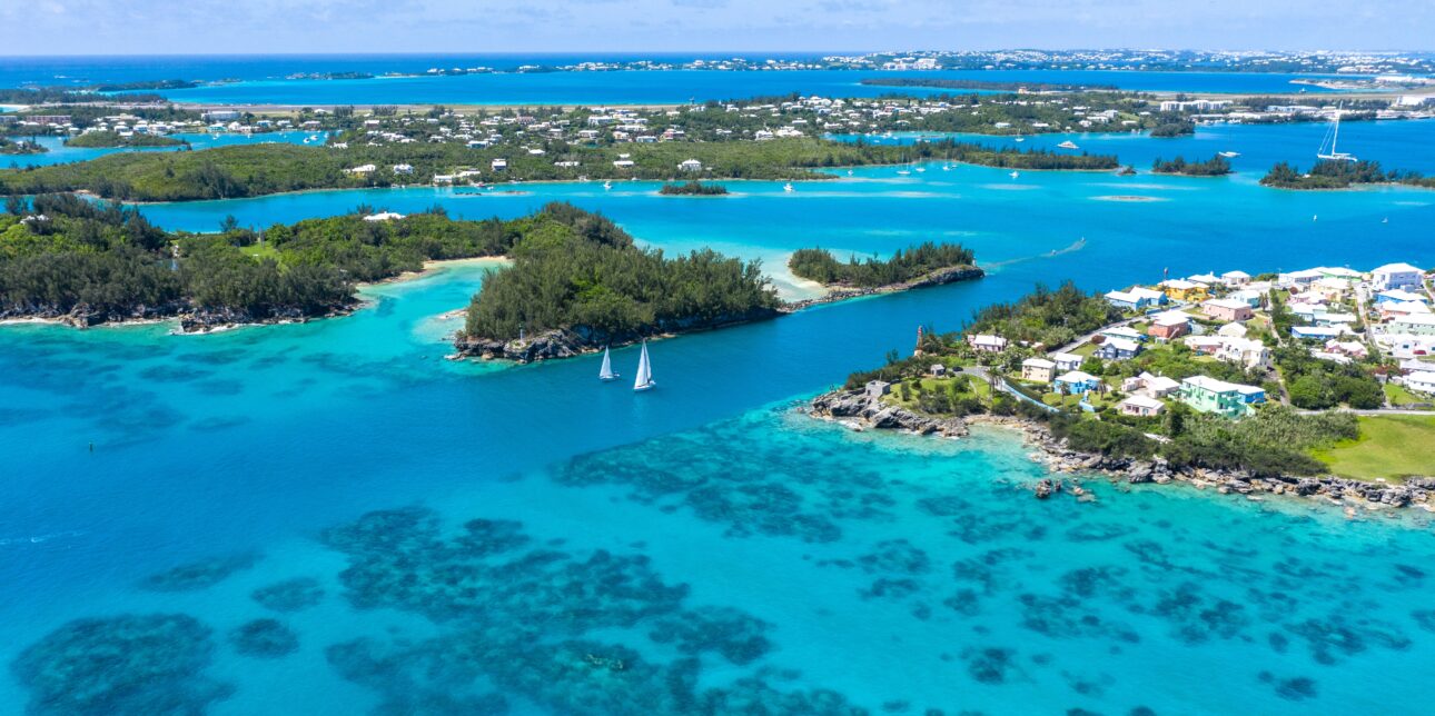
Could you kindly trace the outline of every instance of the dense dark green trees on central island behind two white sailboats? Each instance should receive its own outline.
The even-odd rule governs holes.
[[[603,217],[550,204],[528,220],[514,264],[468,308],[469,339],[564,329],[607,341],[738,320],[778,307],[759,264],[710,250],[669,258]]]

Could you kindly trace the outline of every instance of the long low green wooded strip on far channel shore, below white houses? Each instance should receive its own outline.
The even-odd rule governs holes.
[[[831,179],[822,172],[837,166],[901,164],[916,159],[1013,169],[1114,169],[1109,155],[1069,155],[1048,151],[994,149],[961,142],[918,146],[885,146],[824,139],[768,142],[651,143],[623,148],[631,166],[617,166],[617,146],[555,145],[547,155],[515,154],[505,148],[466,148],[439,143],[387,143],[377,146],[307,146],[258,143],[220,146],[192,152],[121,152],[96,159],[0,169],[0,194],[88,191],[122,201],[189,201],[258,197],[300,189],[389,187],[433,182],[464,168],[489,168],[505,159],[507,168],[484,169],[492,182],[565,179],[673,179],[680,162],[696,158],[712,176],[735,179]],[[577,165],[563,165],[551,156]],[[406,171],[396,168],[405,166]]]

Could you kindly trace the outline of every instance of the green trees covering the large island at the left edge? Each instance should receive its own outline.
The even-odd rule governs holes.
[[[185,330],[297,320],[356,306],[357,281],[428,260],[502,255],[531,222],[372,209],[264,231],[171,234],[128,207],[73,195],[11,198],[0,214],[0,317],[72,324],[182,319]]]

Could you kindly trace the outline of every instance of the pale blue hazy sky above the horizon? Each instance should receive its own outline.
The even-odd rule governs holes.
[[[4,55],[1435,49],[1432,0],[0,0]]]

